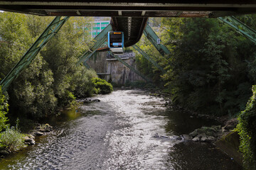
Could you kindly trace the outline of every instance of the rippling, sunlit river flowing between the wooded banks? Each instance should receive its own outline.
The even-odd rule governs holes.
[[[213,145],[176,140],[214,120],[191,118],[140,90],[97,96],[49,120],[54,131],[0,161],[0,169],[241,169]]]

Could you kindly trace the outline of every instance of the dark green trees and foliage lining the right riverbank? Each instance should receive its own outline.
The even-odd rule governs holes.
[[[256,30],[256,15],[238,19]],[[238,118],[245,168],[256,169],[255,94],[251,91],[256,84],[255,44],[216,18],[153,18],[151,23],[171,55],[161,56],[143,36],[137,45],[166,74],[138,53],[139,71],[165,86],[172,102],[182,108]]]

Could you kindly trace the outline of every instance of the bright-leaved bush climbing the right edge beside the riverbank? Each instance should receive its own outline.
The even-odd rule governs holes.
[[[256,169],[256,86],[252,86],[252,93],[245,111],[242,111],[238,117],[240,150],[245,169]]]

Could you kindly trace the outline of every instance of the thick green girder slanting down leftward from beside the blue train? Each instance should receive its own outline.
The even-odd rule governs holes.
[[[86,62],[92,54],[102,45],[104,42],[107,41],[107,32],[112,31],[112,26],[109,24],[102,32],[100,32],[92,41],[94,42],[92,47],[90,47],[90,50],[87,50],[85,53],[83,53],[79,58],[78,58],[78,63],[84,63]]]

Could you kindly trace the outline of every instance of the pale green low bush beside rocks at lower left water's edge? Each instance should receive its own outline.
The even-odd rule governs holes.
[[[17,127],[7,128],[6,131],[0,133],[0,147],[16,151],[24,145],[24,135],[19,132]]]

